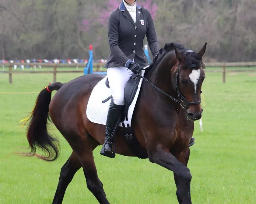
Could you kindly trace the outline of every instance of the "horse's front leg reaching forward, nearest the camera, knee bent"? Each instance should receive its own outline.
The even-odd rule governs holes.
[[[192,176],[189,169],[180,162],[169,150],[163,145],[157,145],[154,148],[148,149],[148,159],[152,163],[156,163],[170,171],[173,171],[178,176],[177,182],[177,198],[180,204],[191,204],[190,197],[190,182]]]

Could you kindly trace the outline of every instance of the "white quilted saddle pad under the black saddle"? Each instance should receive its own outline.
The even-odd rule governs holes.
[[[142,71],[142,76],[144,76],[145,71]],[[106,87],[106,79],[107,77],[104,77],[99,83],[93,88],[91,96],[88,101],[87,109],[86,109],[86,115],[87,118],[97,124],[106,125],[109,105],[111,102],[111,99],[109,99],[107,102],[102,103],[103,100],[111,96],[110,88]],[[138,98],[138,94],[140,92],[141,84],[143,79],[140,79],[140,82],[138,84],[138,89],[135,94],[135,97],[132,101],[132,104],[129,107],[128,110],[128,121],[121,121],[119,126],[122,126],[122,122],[126,124],[128,123],[131,127],[132,122],[132,114],[134,111],[134,107]]]

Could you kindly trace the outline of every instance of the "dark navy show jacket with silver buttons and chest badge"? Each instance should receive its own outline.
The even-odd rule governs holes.
[[[143,50],[143,40],[147,36],[148,45],[153,57],[159,52],[154,22],[150,12],[137,5],[136,23],[127,11],[124,2],[112,11],[108,19],[108,41],[110,55],[105,68],[122,66],[129,67],[134,59],[140,66],[148,65]]]

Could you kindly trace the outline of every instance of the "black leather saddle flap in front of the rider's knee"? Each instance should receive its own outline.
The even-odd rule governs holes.
[[[138,85],[141,77],[137,74],[133,74],[129,81],[126,82],[124,87],[124,120],[128,114],[129,106],[132,104],[132,101],[135,97],[135,94],[138,89]]]

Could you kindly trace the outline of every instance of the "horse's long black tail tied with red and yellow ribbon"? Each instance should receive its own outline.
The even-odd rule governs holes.
[[[62,83],[54,82],[39,93],[34,109],[28,118],[30,121],[26,135],[30,152],[23,154],[23,156],[36,156],[45,161],[54,161],[58,158],[59,141],[48,133],[47,125],[48,120],[50,120],[51,92],[58,91],[63,85]],[[36,154],[36,149],[41,150],[45,156]]]

